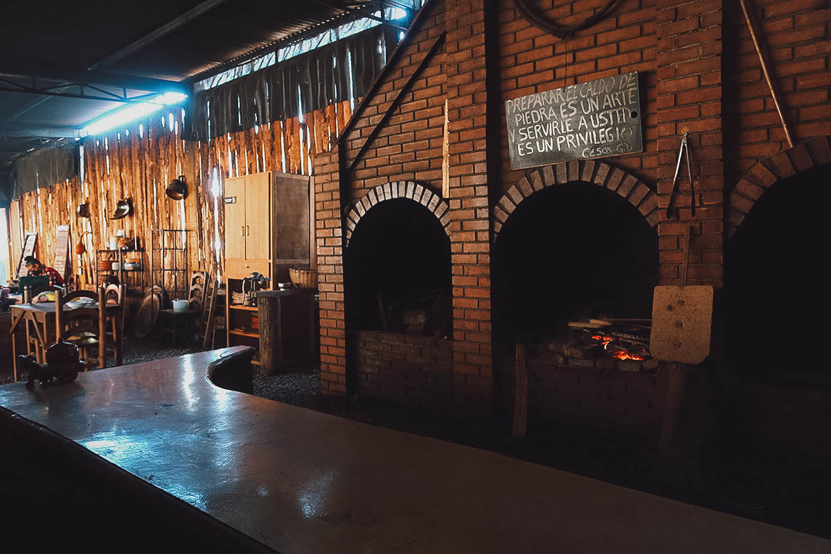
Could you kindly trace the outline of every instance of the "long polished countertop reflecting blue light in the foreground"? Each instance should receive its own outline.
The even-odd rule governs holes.
[[[831,552],[781,527],[220,389],[206,368],[234,351],[0,386],[0,417],[285,554]]]

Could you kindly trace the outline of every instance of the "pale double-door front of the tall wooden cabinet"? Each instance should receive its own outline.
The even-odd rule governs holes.
[[[225,179],[225,260],[230,278],[241,279],[253,271],[271,277],[271,189],[270,172]]]

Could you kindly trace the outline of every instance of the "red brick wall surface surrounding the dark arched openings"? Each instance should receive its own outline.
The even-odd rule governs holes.
[[[608,179],[615,175],[625,175],[632,186],[624,189],[624,196],[632,200],[632,194],[637,194],[638,202],[632,203],[650,223],[657,224],[661,282],[681,282],[681,238],[686,228],[692,228],[689,282],[720,287],[725,236],[752,207],[754,195],[758,197],[769,186],[769,173],[777,174],[765,169],[770,164],[796,169],[806,153],[816,164],[831,152],[829,141],[817,138],[829,134],[831,119],[827,2],[753,2],[794,135],[806,143],[788,153],[783,152],[784,135],[735,2],[627,0],[610,17],[568,39],[532,26],[510,0],[429,2],[386,75],[356,112],[340,141],[340,154],[315,160],[323,390],[345,393],[347,375],[356,373],[351,364],[366,368],[366,360],[382,359],[348,350],[352,345],[367,351],[360,338],[350,335],[356,330],[348,326],[342,287],[342,233],[351,221],[343,210],[378,185],[412,181],[447,203],[441,217],[447,219],[451,241],[454,340],[442,348],[452,352],[450,379],[455,400],[479,406],[488,406],[492,400],[490,234],[509,217],[499,208],[500,199],[507,195],[526,201],[538,185],[548,184],[547,170],[557,183],[562,173],[568,180],[575,177],[603,186],[610,186]],[[547,16],[568,24],[588,15],[597,2],[541,0],[537,5]],[[641,74],[643,153],[529,171],[510,169],[504,100],[627,71]],[[685,131],[690,133],[696,213],[691,210],[689,184],[682,179],[676,199],[678,217],[667,218],[671,180]],[[445,140],[447,174],[442,172]],[[769,161],[757,163],[766,156]],[[740,178],[745,171],[752,175]],[[534,175],[541,177],[535,180]],[[443,177],[449,185],[445,192]],[[613,180],[616,190],[623,179]],[[743,188],[734,190],[736,183]],[[725,198],[736,198],[735,206],[730,205],[729,228],[725,227],[729,211]],[[425,355],[425,349],[432,347],[420,348],[419,355]],[[403,380],[393,376],[387,385],[407,383],[407,371]],[[410,371],[419,374],[419,370]],[[548,386],[546,380],[555,385],[562,382],[566,389],[599,380],[600,390],[617,390],[617,380],[630,379],[606,374],[588,379],[570,371],[546,370],[535,379],[542,390]],[[366,376],[367,372],[357,373]],[[363,382],[359,390],[366,390],[369,380]],[[374,390],[385,390],[381,381],[377,385]],[[643,405],[647,399],[649,409],[657,409],[656,397],[650,396],[657,394],[657,386],[649,385],[649,393],[632,392],[632,402]],[[616,392],[602,394],[618,398]],[[623,400],[612,404],[627,405],[626,395],[619,398]],[[560,400],[539,405],[561,409],[555,408]],[[608,413],[625,415],[614,410]],[[654,412],[638,417],[656,420]]]

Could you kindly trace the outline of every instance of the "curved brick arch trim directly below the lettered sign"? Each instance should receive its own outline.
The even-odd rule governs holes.
[[[593,159],[574,159],[562,164],[529,169],[517,184],[508,189],[494,206],[494,242],[510,214],[524,199],[546,187],[575,181],[593,183],[598,187],[613,190],[637,208],[652,227],[658,224],[657,196],[637,177],[623,169]]]

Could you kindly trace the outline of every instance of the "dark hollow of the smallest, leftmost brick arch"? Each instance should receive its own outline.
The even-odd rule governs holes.
[[[450,238],[435,215],[410,199],[376,204],[361,218],[344,260],[350,326],[405,331],[405,312],[429,311],[450,295]]]

